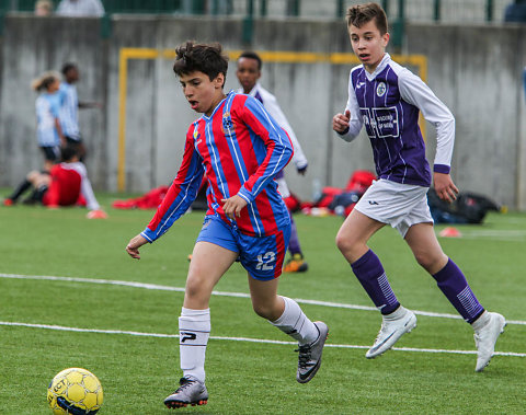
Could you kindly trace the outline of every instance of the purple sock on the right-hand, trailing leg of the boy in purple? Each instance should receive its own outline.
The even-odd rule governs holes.
[[[438,288],[468,323],[472,323],[484,309],[474,297],[460,268],[449,260],[444,268],[433,275]]]

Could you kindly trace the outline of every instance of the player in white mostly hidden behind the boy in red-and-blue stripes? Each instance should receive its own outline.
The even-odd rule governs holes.
[[[251,95],[259,100],[265,109],[271,114],[274,119],[279,124],[279,126],[287,131],[290,141],[294,147],[294,157],[293,162],[296,165],[296,170],[299,174],[305,175],[307,171],[308,161],[299,145],[296,134],[293,130],[293,127],[287,120],[287,117],[283,113],[279,104],[277,103],[276,97],[265,90],[258,80],[261,78],[261,67],[262,60],[261,57],[254,51],[243,51],[238,58],[238,69],[236,74],[238,77],[241,89],[238,90],[239,93],[244,93]],[[290,196],[290,191],[288,189],[287,182],[285,181],[285,172],[282,170],[276,177],[274,178],[277,182],[279,194],[284,199]],[[296,229],[296,223],[294,221],[293,215],[290,212],[290,241],[288,245],[288,251],[290,253],[290,258],[284,265],[283,270],[285,273],[304,273],[308,269],[308,264],[304,260],[304,253],[301,252],[301,245],[299,243],[298,231]]]

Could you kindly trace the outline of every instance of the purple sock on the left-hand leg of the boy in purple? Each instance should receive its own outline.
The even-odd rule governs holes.
[[[382,314],[392,313],[400,303],[387,280],[386,272],[378,256],[369,250],[351,264],[354,275]]]

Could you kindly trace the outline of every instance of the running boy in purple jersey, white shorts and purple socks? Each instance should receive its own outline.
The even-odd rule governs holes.
[[[482,308],[462,272],[436,239],[426,197],[431,171],[418,124],[422,111],[436,127],[433,181],[441,199],[451,201],[458,194],[449,175],[455,118],[419,77],[385,53],[389,42],[387,16],[378,4],[351,7],[346,18],[351,45],[363,65],[351,70],[347,105],[344,114],[333,117],[332,127],[341,138],[352,141],[365,124],[378,174],[336,235],[338,247],[382,314],[380,332],[365,356],[381,355],[416,326],[414,313],[399,303],[380,261],[367,246],[373,234],[390,224],[472,325],[478,349],[476,371],[481,371],[506,322],[501,314]]]

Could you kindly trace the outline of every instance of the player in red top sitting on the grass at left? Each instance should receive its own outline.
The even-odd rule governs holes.
[[[79,161],[76,149],[67,146],[60,149],[62,162],[55,164],[49,173],[32,171],[16,189],[3,200],[5,206],[14,205],[30,188],[31,195],[24,204],[42,203],[48,208],[73,206],[79,203],[87,205],[90,219],[104,219],[106,214],[101,210],[88,178],[85,166]]]

